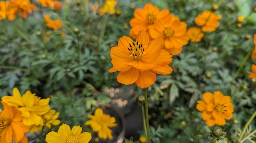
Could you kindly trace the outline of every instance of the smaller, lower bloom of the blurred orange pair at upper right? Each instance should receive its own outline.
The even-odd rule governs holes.
[[[204,37],[204,33],[198,27],[191,27],[186,33],[189,36],[191,42],[200,42],[202,37]]]

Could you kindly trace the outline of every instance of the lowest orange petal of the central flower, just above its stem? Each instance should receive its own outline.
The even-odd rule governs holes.
[[[149,87],[150,85],[153,85],[156,80],[156,75],[154,72],[151,72],[150,70],[145,72],[139,72],[139,78],[136,81],[136,85],[142,89],[145,89]]]

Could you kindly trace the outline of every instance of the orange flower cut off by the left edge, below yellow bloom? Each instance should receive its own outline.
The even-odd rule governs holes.
[[[11,143],[12,139],[18,143],[27,142],[25,132],[29,131],[29,126],[24,125],[23,117],[17,107],[9,106],[2,102],[4,110],[0,115],[0,142]]]

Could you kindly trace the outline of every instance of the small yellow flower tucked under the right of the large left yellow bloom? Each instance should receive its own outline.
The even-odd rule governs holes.
[[[31,129],[29,132],[36,132],[38,130],[42,130],[43,126],[46,126],[49,129],[52,127],[52,125],[57,126],[58,124],[61,123],[61,121],[57,119],[59,114],[60,113],[58,113],[58,112],[56,113],[56,111],[54,109],[51,109],[44,115],[41,115],[41,117],[43,118],[44,124],[39,124],[37,126],[36,125],[31,126]]]

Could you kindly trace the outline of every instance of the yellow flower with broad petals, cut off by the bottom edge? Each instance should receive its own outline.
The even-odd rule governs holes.
[[[90,132],[82,132],[80,126],[74,126],[70,131],[70,126],[62,124],[58,132],[49,132],[46,135],[45,141],[47,143],[89,143],[92,139]]]

